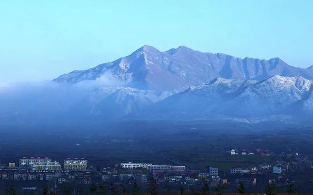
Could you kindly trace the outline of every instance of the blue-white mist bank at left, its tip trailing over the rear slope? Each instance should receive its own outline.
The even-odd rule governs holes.
[[[78,83],[55,81],[15,82],[0,84],[0,122],[56,122],[54,118],[86,98],[99,86],[124,83],[105,74],[96,80]]]

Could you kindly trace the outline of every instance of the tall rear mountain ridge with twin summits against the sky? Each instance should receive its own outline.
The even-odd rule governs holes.
[[[112,74],[126,86],[149,90],[184,90],[214,78],[263,80],[273,75],[313,79],[313,69],[296,68],[279,58],[235,58],[225,54],[194,51],[185,46],[160,52],[144,45],[131,55],[85,71],[73,71],[54,79],[76,83]]]

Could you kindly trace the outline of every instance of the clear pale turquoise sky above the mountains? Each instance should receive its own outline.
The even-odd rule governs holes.
[[[313,64],[312,0],[1,0],[0,82],[49,80],[186,45]]]

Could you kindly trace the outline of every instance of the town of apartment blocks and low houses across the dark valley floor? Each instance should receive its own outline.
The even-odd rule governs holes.
[[[270,155],[268,151],[260,149],[256,152],[258,155]],[[228,151],[228,154],[254,155],[251,151],[235,149]],[[132,192],[134,187],[139,194],[154,194],[153,191],[156,190],[164,194],[169,191],[185,194],[201,191],[258,193],[268,189],[295,192],[298,190],[296,178],[292,176],[301,171],[312,172],[313,163],[307,156],[299,154],[283,153],[280,156],[286,160],[258,166],[233,166],[227,172],[212,166],[207,166],[206,170],[194,170],[185,165],[154,165],[149,162],[120,162],[112,167],[98,169],[89,165],[88,159],[84,158],[66,158],[60,163],[48,157],[21,157],[18,165],[15,162],[0,165],[0,180],[2,187],[11,186],[14,189],[19,186],[21,192],[25,191],[24,194],[27,191],[41,194],[44,187],[55,194],[64,192],[64,189],[84,194],[88,192],[83,192],[82,189],[99,185],[107,186],[106,190],[111,189],[111,193],[112,190]],[[157,187],[154,188],[153,185]],[[80,193],[78,189],[81,189]],[[307,182],[305,189],[313,189],[313,180]]]

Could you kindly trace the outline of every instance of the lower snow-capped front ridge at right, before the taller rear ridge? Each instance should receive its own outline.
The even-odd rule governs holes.
[[[265,117],[312,113],[313,80],[275,75],[266,80],[216,78],[151,105],[159,118]]]

